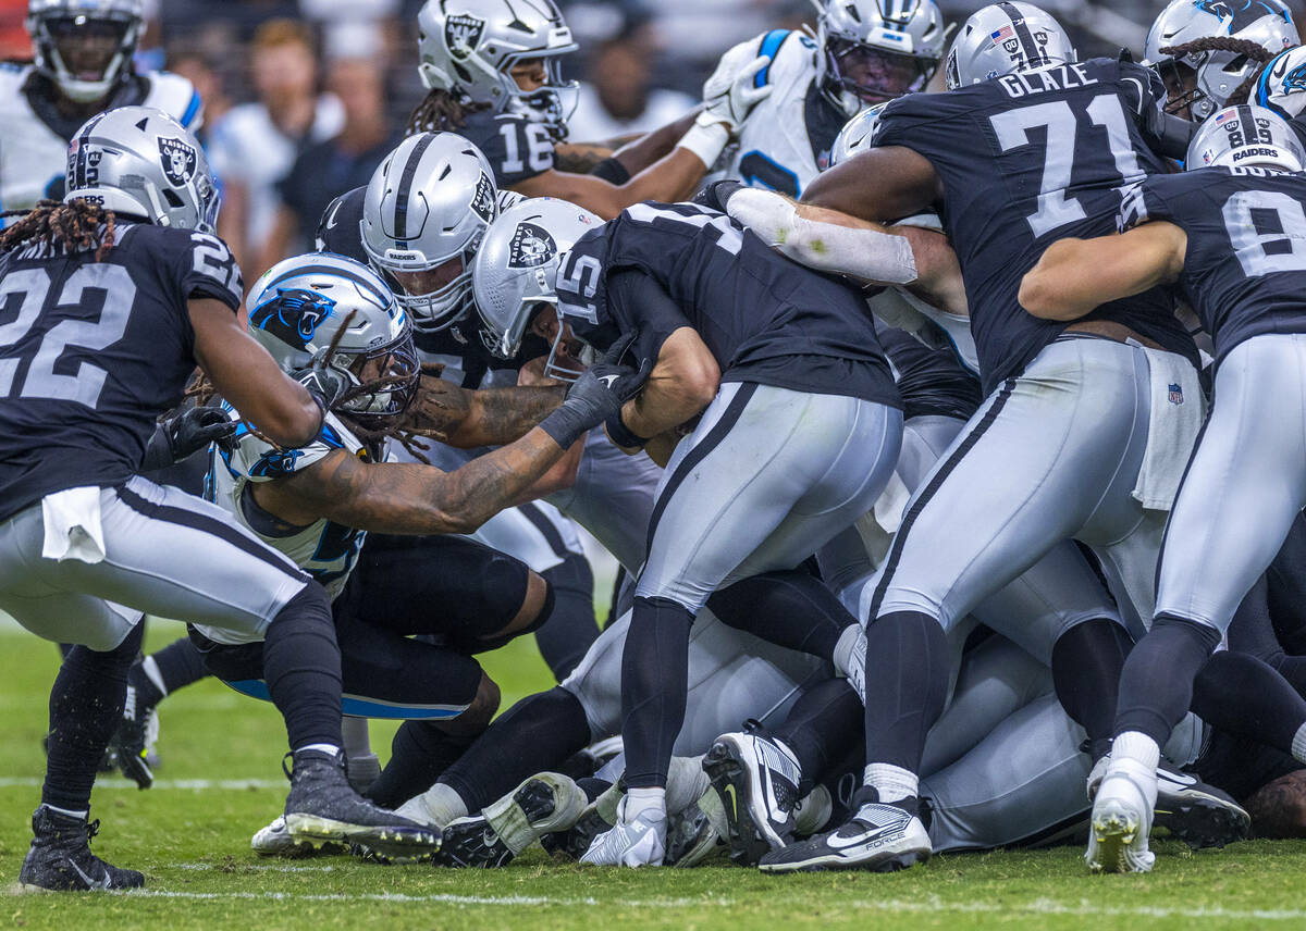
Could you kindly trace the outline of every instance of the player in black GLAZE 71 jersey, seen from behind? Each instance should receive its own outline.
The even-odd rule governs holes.
[[[1047,242],[1107,231],[1119,188],[1162,171],[1149,148],[1165,99],[1155,72],[1076,63],[1055,20],[1032,4],[999,3],[960,30],[948,84],[948,93],[889,103],[875,148],[804,195],[882,223],[942,206],[987,400],[913,495],[863,598],[868,765],[858,813],[832,834],[773,854],[774,868],[887,870],[929,857],[916,817],[917,770],[948,682],[946,631],[1055,543],[1092,546],[1126,601],[1151,614],[1161,514],[1186,450],[1141,474],[1151,434],[1140,411],[1173,418],[1196,409],[1164,407],[1153,388],[1161,379],[1200,397],[1196,351],[1166,294],[1098,308],[1070,326],[1036,320],[1016,303],[1020,274]],[[1050,138],[1057,145],[1046,145]],[[1179,426],[1190,436],[1188,422]],[[1149,508],[1134,497],[1136,487]],[[1127,635],[1102,625],[1079,649],[1083,661],[1062,671],[1079,682],[1059,683],[1058,692],[1097,695],[1109,717]],[[902,669],[918,672],[902,676]]]

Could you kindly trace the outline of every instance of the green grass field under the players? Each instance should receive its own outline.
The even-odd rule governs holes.
[[[158,624],[153,646],[180,627]],[[39,799],[51,644],[0,628],[0,876],[16,888]],[[504,706],[550,684],[533,644],[490,657]],[[383,752],[392,729],[374,727]],[[347,857],[263,860],[249,834],[285,798],[285,733],[269,706],[201,683],[163,708],[159,782],[97,787],[95,850],[144,870],[129,894],[7,894],[22,928],[1299,928],[1306,844],[1190,854],[1157,845],[1149,876],[1089,876],[1080,850],[938,857],[889,876],[767,877],[724,858],[690,870],[580,868],[535,850],[499,871],[381,867]]]

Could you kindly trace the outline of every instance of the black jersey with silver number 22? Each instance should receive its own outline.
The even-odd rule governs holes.
[[[137,473],[195,371],[187,300],[240,307],[217,236],[120,221],[116,239],[101,262],[37,247],[0,257],[0,518]]]

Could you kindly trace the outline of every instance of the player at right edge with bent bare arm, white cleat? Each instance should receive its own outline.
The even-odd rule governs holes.
[[[1077,320],[1173,282],[1216,350],[1215,406],[1166,528],[1152,629],[1121,679],[1094,870],[1152,867],[1158,742],[1306,504],[1306,150],[1277,114],[1243,104],[1203,125],[1186,166],[1126,195],[1123,235],[1049,248],[1020,294],[1040,317]]]

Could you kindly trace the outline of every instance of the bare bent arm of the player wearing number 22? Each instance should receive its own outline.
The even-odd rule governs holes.
[[[218,394],[273,443],[290,448],[312,443],[323,410],[308,390],[277,367],[221,300],[193,299],[188,308],[195,358]]]

